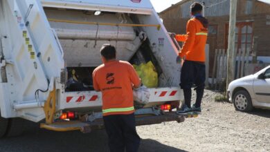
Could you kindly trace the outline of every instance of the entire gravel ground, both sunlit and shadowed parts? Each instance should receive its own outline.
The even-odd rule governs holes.
[[[214,102],[216,95],[206,91],[197,118],[138,126],[139,151],[270,151],[270,110],[237,112],[233,104]],[[108,151],[107,135],[55,133],[31,124],[24,135],[0,140],[0,151]]]

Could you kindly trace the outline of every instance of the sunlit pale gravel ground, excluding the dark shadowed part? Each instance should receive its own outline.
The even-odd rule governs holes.
[[[215,102],[216,95],[219,93],[206,91],[197,118],[180,124],[140,126],[138,133],[143,139],[179,149],[175,151],[270,151],[270,111],[241,113],[233,104]],[[193,101],[194,97],[192,93]]]

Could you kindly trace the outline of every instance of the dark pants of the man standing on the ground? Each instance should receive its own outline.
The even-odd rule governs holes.
[[[141,138],[136,132],[134,113],[103,117],[111,152],[136,152]]]

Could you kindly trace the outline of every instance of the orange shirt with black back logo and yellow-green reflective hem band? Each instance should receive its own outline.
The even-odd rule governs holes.
[[[132,85],[141,80],[127,61],[109,61],[93,71],[93,87],[102,93],[102,113],[127,115],[134,113]]]

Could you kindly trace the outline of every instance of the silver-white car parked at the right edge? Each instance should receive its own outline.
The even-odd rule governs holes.
[[[237,111],[270,109],[270,66],[231,82],[228,85],[228,98]]]

